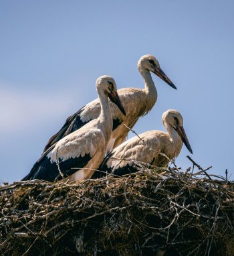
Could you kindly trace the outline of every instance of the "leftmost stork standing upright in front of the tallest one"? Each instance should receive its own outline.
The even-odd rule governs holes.
[[[85,180],[100,166],[113,125],[108,97],[123,115],[126,113],[112,77],[100,76],[96,88],[101,108],[99,117],[51,145],[23,180]]]

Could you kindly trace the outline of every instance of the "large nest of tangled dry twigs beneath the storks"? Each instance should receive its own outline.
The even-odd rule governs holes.
[[[234,186],[177,168],[0,186],[1,255],[234,255]]]

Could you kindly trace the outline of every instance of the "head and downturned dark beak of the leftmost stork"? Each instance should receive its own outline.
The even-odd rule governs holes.
[[[112,101],[112,103],[115,103],[120,111],[124,115],[126,115],[124,107],[120,101],[120,97],[118,96],[116,82],[114,78],[112,78],[111,76],[100,76],[96,81],[96,87],[98,93],[106,94],[110,101]]]

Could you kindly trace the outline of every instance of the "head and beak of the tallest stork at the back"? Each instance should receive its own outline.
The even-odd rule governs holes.
[[[142,70],[148,70],[156,74],[160,77],[166,84],[169,84],[172,88],[177,89],[176,86],[171,82],[171,80],[166,76],[166,74],[160,68],[158,60],[150,54],[146,54],[138,60],[138,70],[141,72]]]

